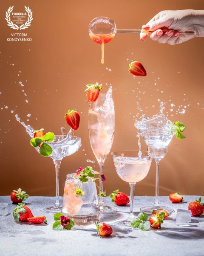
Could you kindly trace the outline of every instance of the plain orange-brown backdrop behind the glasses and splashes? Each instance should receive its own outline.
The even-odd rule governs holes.
[[[24,5],[33,11],[31,26],[22,31],[32,38],[31,42],[6,41],[15,32],[5,20],[5,11],[13,5],[14,12],[24,12]],[[204,195],[204,38],[170,46],[150,39],[142,42],[139,35],[117,34],[105,45],[105,64],[102,65],[100,45],[91,41],[88,35],[88,23],[94,17],[111,17],[118,28],[139,29],[164,9],[204,9],[204,3],[201,0],[148,0],[145,3],[135,0],[1,1],[0,195],[8,195],[19,187],[30,195],[55,195],[54,164],[51,158],[43,158],[31,147],[30,137],[15,120],[15,114],[35,129],[44,128],[46,132],[59,134],[62,126],[67,132],[69,130],[63,119],[68,109],[82,112],[76,132],[82,138],[82,147],[62,160],[60,195],[66,175],[89,165],[87,159],[95,160],[89,143],[88,103],[84,91],[86,84],[96,81],[103,84],[103,92],[108,90],[106,83],[113,86],[116,129],[112,151],[138,149],[133,118],[138,113],[137,95],[148,116],[158,113],[158,99],[164,100],[165,113],[168,112],[173,122],[184,122],[187,138],[173,138],[167,156],[161,160],[159,195],[175,191],[184,195]],[[147,70],[144,79],[134,78],[127,72],[132,59],[144,65]],[[176,105],[172,113],[171,103]],[[180,105],[187,106],[184,114],[176,114]],[[146,150],[144,142],[142,149]],[[91,164],[94,165],[98,170],[98,164]],[[105,161],[104,174],[107,194],[113,189],[129,194],[129,186],[116,174],[110,155]],[[155,195],[155,162],[147,177],[136,184],[136,195]]]

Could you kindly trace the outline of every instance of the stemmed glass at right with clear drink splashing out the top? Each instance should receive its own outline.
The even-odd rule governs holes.
[[[159,204],[159,161],[167,154],[167,147],[172,140],[175,132],[172,130],[163,130],[161,128],[140,130],[145,143],[147,144],[147,152],[155,159],[156,162],[156,197],[153,206],[142,207],[141,212],[151,214],[153,210],[165,209],[169,214],[174,209]]]

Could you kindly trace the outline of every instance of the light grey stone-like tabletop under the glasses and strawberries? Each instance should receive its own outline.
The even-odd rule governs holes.
[[[15,205],[9,196],[0,196],[1,203],[9,204],[10,215],[0,216],[0,256],[203,256],[204,255],[204,215],[192,217],[190,227],[176,226],[176,210],[188,209],[190,201],[199,196],[184,196],[184,203],[172,204],[168,197],[160,197],[160,204],[173,207],[171,214],[161,230],[131,232],[113,227],[110,237],[99,237],[95,230],[52,230],[53,215],[41,212],[42,207],[54,203],[53,197],[29,197],[26,205],[34,215],[45,215],[48,225],[30,225],[16,223],[12,217]],[[204,201],[204,197],[201,197]],[[62,197],[60,198],[62,201]],[[105,198],[108,205],[113,205],[110,198]],[[135,215],[142,206],[152,205],[154,197],[135,197]],[[117,212],[109,212],[102,221],[113,224],[115,219],[125,219],[129,214],[129,205],[116,207]]]

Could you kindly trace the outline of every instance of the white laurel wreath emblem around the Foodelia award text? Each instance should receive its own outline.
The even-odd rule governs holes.
[[[31,21],[33,20],[33,12],[31,12],[31,9],[29,7],[25,6],[26,12],[28,12],[28,20],[26,21],[25,24],[21,25],[20,27],[14,24],[10,18],[11,12],[13,11],[14,6],[10,6],[6,12],[6,20],[7,20],[7,25],[10,26],[11,29],[27,29],[28,26],[31,26]]]

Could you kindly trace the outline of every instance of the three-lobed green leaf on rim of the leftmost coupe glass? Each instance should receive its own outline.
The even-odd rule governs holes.
[[[36,148],[42,143],[42,145],[40,146],[39,152],[43,157],[48,157],[52,154],[52,148],[50,145],[48,145],[45,142],[52,142],[53,140],[54,140],[54,133],[48,132],[43,137],[35,137],[31,139],[30,144],[31,146]]]

